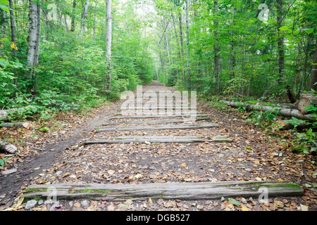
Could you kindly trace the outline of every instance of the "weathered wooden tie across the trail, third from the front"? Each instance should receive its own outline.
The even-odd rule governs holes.
[[[99,127],[96,132],[107,131],[139,131],[139,130],[161,130],[161,129],[204,129],[211,127],[219,127],[216,123],[206,124],[177,124],[177,125],[162,125],[162,126],[130,126],[130,127]]]

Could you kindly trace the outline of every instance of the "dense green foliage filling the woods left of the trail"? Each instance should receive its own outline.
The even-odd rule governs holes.
[[[106,2],[98,2],[94,10],[89,8],[85,35],[80,30],[82,4],[77,4],[73,9],[70,1],[43,2],[42,8],[45,10],[49,4],[56,4],[60,8],[58,13],[67,20],[74,15],[76,26],[75,31],[70,32],[70,27],[66,30],[58,20],[42,20],[39,64],[32,68],[35,74],[32,78],[28,77],[30,70],[26,61],[28,17],[26,13],[15,13],[18,16],[15,18],[15,44],[18,46],[15,55],[12,52],[10,32],[3,39],[0,38],[0,108],[33,105],[33,112],[9,115],[10,119],[30,119],[37,113],[40,120],[49,120],[58,112],[80,111],[116,101],[122,91],[151,82],[154,60],[151,52],[147,51],[149,41],[142,37],[143,26],[146,25],[131,10],[133,3],[129,1],[122,6],[123,13],[113,12],[110,91],[107,90],[109,68],[104,25]],[[21,7],[20,3],[14,7]],[[7,6],[1,4],[0,8],[6,10]],[[6,16],[2,18],[3,15]],[[9,25],[8,14],[1,14],[0,19],[4,19],[1,24]],[[121,26],[120,23],[125,24]],[[35,93],[27,90],[27,85],[32,82],[36,84]]]

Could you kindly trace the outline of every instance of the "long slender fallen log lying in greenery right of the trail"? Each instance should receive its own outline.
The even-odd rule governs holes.
[[[290,108],[280,108],[280,107],[273,107],[268,105],[254,105],[254,104],[245,104],[245,103],[238,103],[234,101],[220,101],[220,103],[225,103],[226,105],[230,105],[231,107],[239,108],[241,106],[245,107],[247,110],[257,110],[257,111],[274,111],[278,110],[278,113],[285,117],[295,117],[300,120],[309,120],[309,121],[316,121],[316,116],[313,115],[302,115],[299,113],[299,110],[294,110]]]

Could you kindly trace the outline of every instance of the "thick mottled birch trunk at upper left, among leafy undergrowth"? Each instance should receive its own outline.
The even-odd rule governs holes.
[[[37,91],[37,75],[33,68],[39,63],[39,39],[41,37],[41,15],[42,9],[40,4],[42,0],[30,0],[29,13],[29,35],[27,37],[27,79],[31,82],[27,85],[27,92],[34,95]]]

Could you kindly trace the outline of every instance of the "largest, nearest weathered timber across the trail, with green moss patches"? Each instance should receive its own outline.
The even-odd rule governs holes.
[[[147,183],[147,184],[35,184],[25,189],[25,199],[47,198],[52,191],[58,199],[94,200],[127,199],[220,199],[257,198],[263,193],[268,197],[304,195],[298,184],[282,181],[222,181],[213,183]]]

